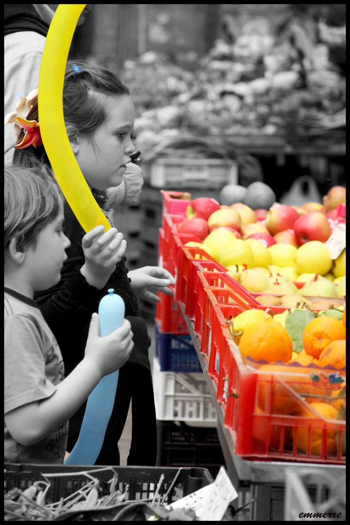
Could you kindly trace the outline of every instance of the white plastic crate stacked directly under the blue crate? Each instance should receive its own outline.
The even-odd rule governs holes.
[[[160,363],[154,358],[152,377],[157,419],[188,424],[217,422],[216,409],[202,372],[162,372]]]

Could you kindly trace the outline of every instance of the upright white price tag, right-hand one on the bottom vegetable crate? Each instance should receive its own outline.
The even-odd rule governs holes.
[[[200,513],[199,521],[221,521],[230,502],[238,498],[238,493],[224,467],[220,467],[219,474],[210,487],[211,492]]]

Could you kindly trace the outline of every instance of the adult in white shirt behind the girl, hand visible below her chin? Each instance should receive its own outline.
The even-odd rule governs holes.
[[[4,39],[4,115],[14,110],[20,96],[27,95],[39,84],[41,58],[43,57],[47,31],[59,4],[5,4]],[[87,4],[77,25],[84,23],[93,4]],[[11,129],[4,133],[5,166],[12,165],[14,149]],[[142,170],[128,163],[122,183],[110,188],[108,206],[133,206],[140,198]]]

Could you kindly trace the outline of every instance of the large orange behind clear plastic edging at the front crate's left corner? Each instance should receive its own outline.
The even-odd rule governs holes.
[[[301,368],[299,367],[263,364],[259,367],[259,371],[270,372],[258,374],[257,383],[258,406],[266,410],[267,413],[270,411],[270,396],[271,414],[291,415],[300,411],[301,402],[292,396],[289,388],[296,394],[320,395],[320,389],[312,386],[308,374],[300,373]],[[279,375],[272,375],[272,371],[278,372]],[[305,372],[305,369],[303,372]],[[299,375],[289,375],[291,373]],[[284,383],[287,383],[287,386]],[[303,398],[305,399],[305,397]]]

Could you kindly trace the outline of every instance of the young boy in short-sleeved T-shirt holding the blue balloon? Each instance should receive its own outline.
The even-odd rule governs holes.
[[[60,280],[70,245],[62,223],[50,175],[5,169],[5,463],[63,464],[68,419],[133,348],[128,320],[100,338],[93,313],[84,358],[65,379],[59,346],[33,299]]]

